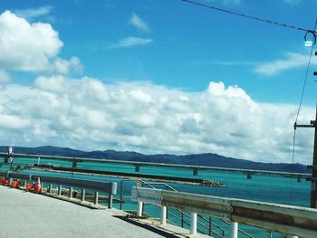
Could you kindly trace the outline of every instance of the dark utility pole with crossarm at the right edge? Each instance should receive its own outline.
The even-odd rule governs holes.
[[[317,55],[317,52],[315,52],[315,55]],[[314,76],[317,76],[317,71],[313,72]],[[311,188],[311,207],[317,208],[317,105],[316,105],[316,115],[315,119],[311,120],[310,125],[293,125],[294,129],[297,128],[314,128],[314,138],[313,138],[313,152],[312,152],[312,166],[308,166],[309,168],[312,168],[312,178],[308,178],[307,180],[312,181],[312,188]]]

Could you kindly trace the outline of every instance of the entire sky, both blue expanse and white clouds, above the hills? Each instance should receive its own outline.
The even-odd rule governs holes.
[[[317,17],[314,0],[196,2],[310,30]],[[292,163],[305,33],[180,0],[2,0],[0,144]],[[312,140],[296,130],[294,163],[312,163]]]

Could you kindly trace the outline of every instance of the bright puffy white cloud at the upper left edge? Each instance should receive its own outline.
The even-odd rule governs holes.
[[[69,62],[57,57],[62,45],[51,24],[29,24],[10,11],[0,14],[0,68],[64,73],[80,67],[75,57]]]

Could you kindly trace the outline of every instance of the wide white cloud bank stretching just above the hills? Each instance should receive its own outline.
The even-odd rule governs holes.
[[[42,76],[33,86],[10,84],[0,101],[1,144],[291,161],[296,107],[255,102],[222,82],[186,92],[149,82]],[[309,121],[314,109],[301,115]],[[296,161],[309,163],[312,131],[298,130],[298,141]]]

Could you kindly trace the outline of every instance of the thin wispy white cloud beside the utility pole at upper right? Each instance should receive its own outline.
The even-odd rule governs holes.
[[[255,71],[266,76],[272,76],[283,71],[304,67],[308,64],[309,55],[298,52],[287,52],[283,60],[266,62],[255,68]],[[312,64],[317,64],[317,59],[312,57]]]

